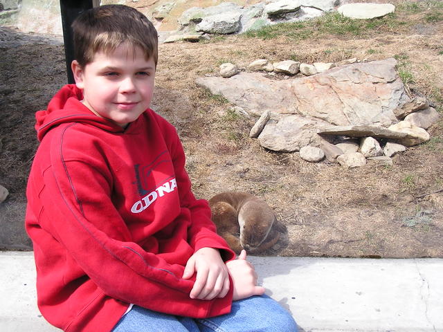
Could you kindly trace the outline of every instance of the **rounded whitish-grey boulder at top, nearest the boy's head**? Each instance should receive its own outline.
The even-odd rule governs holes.
[[[226,35],[236,33],[240,28],[240,12],[226,12],[219,15],[204,17],[195,30],[204,33]]]

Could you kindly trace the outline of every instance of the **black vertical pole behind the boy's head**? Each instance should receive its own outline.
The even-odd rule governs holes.
[[[81,12],[98,6],[97,0],[60,0],[60,11],[62,12],[64,55],[66,58],[66,73],[68,74],[68,83],[74,83],[74,76],[71,71],[71,62],[74,59],[74,43],[71,24],[75,17]],[[95,5],[95,6],[94,6]]]

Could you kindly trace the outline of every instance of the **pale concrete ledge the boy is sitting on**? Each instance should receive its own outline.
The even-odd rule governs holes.
[[[443,259],[250,260],[300,332],[443,331]],[[37,309],[32,252],[0,252],[0,296],[0,331],[60,331]]]

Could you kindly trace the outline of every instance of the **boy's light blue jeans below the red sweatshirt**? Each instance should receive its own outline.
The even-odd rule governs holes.
[[[133,306],[112,332],[297,332],[292,316],[271,297],[234,301],[230,313],[196,319]]]

